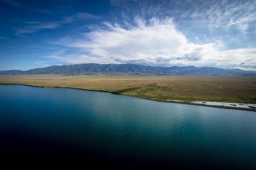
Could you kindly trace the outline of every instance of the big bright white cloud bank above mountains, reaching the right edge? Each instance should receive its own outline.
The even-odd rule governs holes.
[[[135,18],[126,28],[104,23],[104,29],[62,38],[56,44],[83,50],[87,55],[56,58],[67,63],[137,63],[195,65],[255,69],[256,49],[219,51],[215,43],[195,44],[178,31],[173,19]],[[241,63],[244,63],[241,65]],[[251,67],[249,67],[251,66]]]

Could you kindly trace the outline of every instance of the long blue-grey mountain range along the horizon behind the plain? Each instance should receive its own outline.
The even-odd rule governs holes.
[[[255,71],[239,69],[219,69],[215,67],[154,67],[138,64],[73,64],[46,68],[0,71],[0,75],[215,75],[215,76],[256,76]]]

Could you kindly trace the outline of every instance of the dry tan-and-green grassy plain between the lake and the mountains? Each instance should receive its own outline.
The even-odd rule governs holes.
[[[256,77],[224,76],[0,76],[0,84],[69,87],[153,100],[256,103]]]

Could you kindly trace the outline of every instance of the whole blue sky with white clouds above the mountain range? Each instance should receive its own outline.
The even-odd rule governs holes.
[[[256,0],[0,0],[0,70],[77,63],[256,70]]]

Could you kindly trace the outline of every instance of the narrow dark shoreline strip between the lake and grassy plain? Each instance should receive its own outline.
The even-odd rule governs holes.
[[[30,87],[35,87],[35,88],[71,88],[71,87],[59,87],[59,86],[33,86],[33,85],[27,85],[27,84],[2,84],[1,83],[0,85],[22,85],[22,86],[30,86]],[[71,89],[79,89],[79,90],[95,91],[95,92],[105,92],[105,93],[114,94],[112,92],[103,91],[103,90],[89,90],[89,89],[83,89],[83,88],[71,88]],[[195,105],[195,106],[215,107],[215,108],[223,108],[223,109],[233,109],[233,110],[244,110],[244,111],[256,112],[256,109],[253,109],[253,108],[207,105],[207,104],[201,104],[201,103],[191,103],[190,101],[162,101],[162,100],[154,100],[154,99],[132,96],[132,95],[128,95],[128,94],[115,94],[115,95],[126,95],[126,96],[130,96],[130,97],[136,97],[139,99],[146,99],[146,100],[150,100],[150,101],[159,101],[159,102],[166,102],[166,103],[179,103],[179,104],[187,104],[187,105]]]

